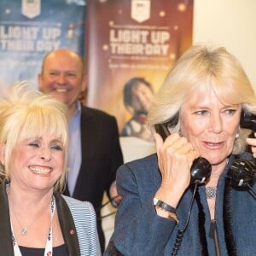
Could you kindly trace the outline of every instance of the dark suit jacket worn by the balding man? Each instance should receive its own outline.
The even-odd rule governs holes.
[[[82,164],[73,198],[90,201],[96,210],[97,228],[102,250],[105,238],[100,219],[104,191],[115,180],[116,171],[124,163],[116,119],[101,110],[82,106]],[[76,148],[74,148],[76,150]],[[65,193],[69,195],[68,191]]]

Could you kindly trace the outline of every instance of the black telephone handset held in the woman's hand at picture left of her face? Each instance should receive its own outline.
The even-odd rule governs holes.
[[[176,114],[172,120],[169,120],[163,124],[154,125],[154,129],[165,141],[166,137],[170,135],[168,126],[177,125],[177,121],[178,115]],[[205,183],[207,179],[211,176],[211,172],[212,166],[205,158],[199,157],[195,159],[190,169],[190,184]]]

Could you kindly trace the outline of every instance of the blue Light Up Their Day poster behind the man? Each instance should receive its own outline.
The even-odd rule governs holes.
[[[67,47],[84,54],[85,0],[0,2],[0,88],[19,80],[37,86],[49,51]]]

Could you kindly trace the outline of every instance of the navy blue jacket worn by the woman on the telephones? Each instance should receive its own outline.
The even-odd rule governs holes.
[[[250,154],[242,154],[248,159]],[[234,160],[218,179],[215,220],[220,255],[252,256],[256,252],[256,200],[248,191],[233,189],[227,172]],[[161,218],[154,209],[153,198],[160,187],[161,177],[156,154],[126,163],[117,172],[119,195],[123,201],[115,218],[114,232],[106,255],[148,256],[172,254],[177,230],[183,229],[188,216],[192,189],[185,191],[177,206],[177,224],[172,218]],[[253,184],[256,191],[256,183]],[[200,185],[190,212],[189,225],[177,255],[217,255],[212,239],[211,217],[206,189]]]

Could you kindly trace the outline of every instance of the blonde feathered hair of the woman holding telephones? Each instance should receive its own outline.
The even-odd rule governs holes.
[[[149,128],[154,131],[154,125],[166,123],[177,116],[189,95],[197,93],[203,97],[210,90],[214,90],[221,101],[241,105],[250,113],[256,113],[253,86],[236,57],[224,47],[195,44],[167,73],[160,90],[154,95],[148,113]],[[180,120],[170,131],[180,131]],[[245,137],[249,133],[244,129],[239,132],[240,137],[233,148],[234,154],[244,150]]]

